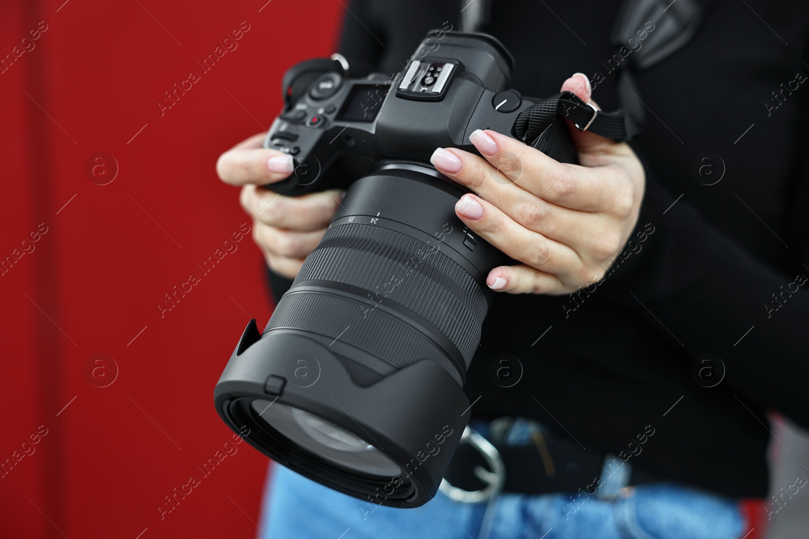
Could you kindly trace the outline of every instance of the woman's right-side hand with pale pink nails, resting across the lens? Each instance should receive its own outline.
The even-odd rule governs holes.
[[[593,103],[585,75],[574,74],[561,89]],[[430,159],[477,193],[455,204],[461,221],[522,262],[489,272],[493,290],[574,292],[601,280],[632,234],[646,183],[641,162],[629,145],[570,129],[581,165],[489,130],[469,137],[485,159],[454,148],[438,148]]]

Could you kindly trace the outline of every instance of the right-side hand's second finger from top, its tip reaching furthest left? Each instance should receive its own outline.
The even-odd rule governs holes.
[[[459,158],[462,168],[457,173],[447,171],[442,152]],[[599,214],[551,204],[504,179],[488,161],[461,149],[437,149],[432,161],[444,175],[463,183],[478,195],[500,208],[519,225],[539,232],[547,238],[565,243],[578,251],[584,247],[590,230],[599,224]]]

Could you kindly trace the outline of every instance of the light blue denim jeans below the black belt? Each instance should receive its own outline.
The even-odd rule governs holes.
[[[440,492],[416,509],[363,502],[273,465],[258,537],[271,539],[738,539],[738,503],[676,483],[630,487],[574,504],[572,493],[503,494],[453,502]],[[342,535],[341,535],[342,534]]]

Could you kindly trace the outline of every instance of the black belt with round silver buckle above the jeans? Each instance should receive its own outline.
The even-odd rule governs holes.
[[[618,489],[604,489],[615,474],[619,486],[660,481],[621,458],[582,448],[574,440],[538,432],[532,438],[535,443],[530,445],[492,444],[467,427],[441,490],[456,501],[479,502],[498,491],[540,495],[581,489],[589,495],[596,491],[615,495]],[[611,482],[615,486],[615,478]]]

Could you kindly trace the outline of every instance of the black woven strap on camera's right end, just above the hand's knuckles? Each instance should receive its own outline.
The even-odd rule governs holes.
[[[596,113],[592,107],[570,91],[551,95],[520,112],[515,121],[515,133],[520,140],[530,143],[553,123],[557,114],[565,116],[580,130],[584,130],[587,124],[590,124],[587,131],[600,137],[612,138],[615,141],[625,141],[628,138],[625,115],[621,109],[616,112]]]

